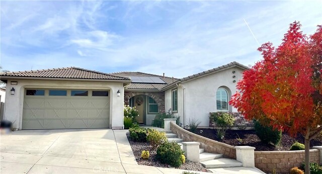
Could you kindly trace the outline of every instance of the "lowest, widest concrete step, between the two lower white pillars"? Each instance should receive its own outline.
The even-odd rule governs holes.
[[[242,162],[235,159],[219,158],[209,161],[200,162],[206,168],[226,168],[226,167],[240,167],[243,166]]]

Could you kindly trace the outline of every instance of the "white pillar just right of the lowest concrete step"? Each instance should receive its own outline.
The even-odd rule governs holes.
[[[244,167],[255,167],[255,147],[251,146],[235,146],[236,160],[243,162]]]

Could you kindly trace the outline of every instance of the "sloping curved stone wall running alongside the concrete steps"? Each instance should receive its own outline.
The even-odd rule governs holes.
[[[221,143],[192,132],[189,132],[182,127],[178,126],[176,123],[170,123],[171,131],[177,134],[179,138],[184,139],[184,141],[196,141],[200,143],[201,148],[204,148],[206,152],[210,153],[220,153],[224,157],[229,157],[236,159],[236,149],[234,146]]]

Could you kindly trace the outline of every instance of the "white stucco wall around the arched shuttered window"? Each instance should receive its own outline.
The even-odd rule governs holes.
[[[235,73],[232,73],[235,71]],[[201,121],[200,127],[209,126],[209,113],[216,112],[216,92],[221,86],[228,91],[228,100],[236,93],[236,84],[242,79],[244,70],[239,67],[231,67],[216,73],[202,76],[193,80],[182,82],[180,85],[185,89],[185,102],[183,111],[183,90],[178,87],[178,114],[184,118],[184,125],[188,125],[190,119]],[[235,78],[232,76],[235,75]],[[236,82],[233,82],[236,80]],[[177,87],[176,87],[177,88]],[[179,90],[181,89],[181,90]],[[229,92],[230,91],[230,92]],[[165,92],[166,110],[171,108],[171,89]],[[183,113],[184,112],[184,113]],[[229,106],[229,112],[237,112],[236,108]]]

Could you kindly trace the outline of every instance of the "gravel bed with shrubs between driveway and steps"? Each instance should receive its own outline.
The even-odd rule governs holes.
[[[135,159],[139,165],[150,165],[150,166],[156,166],[156,167],[168,167],[168,164],[160,163],[156,159],[156,149],[151,150],[151,145],[148,142],[134,142],[129,138],[129,132],[126,133],[127,139],[129,140],[129,143],[131,145],[133,154],[135,156]],[[141,152],[143,150],[148,150],[150,153],[150,156],[148,159],[143,159],[141,157]],[[184,170],[194,170],[194,171],[204,171],[204,172],[211,172],[207,168],[203,167],[201,163],[198,162],[191,162],[186,160],[184,164],[182,164],[178,169],[184,169]]]

